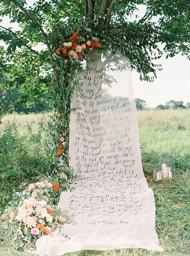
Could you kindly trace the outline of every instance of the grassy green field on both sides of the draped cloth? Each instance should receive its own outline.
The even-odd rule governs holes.
[[[189,186],[188,171],[190,169],[190,111],[189,110],[164,110],[164,111],[139,111],[138,113],[139,138],[141,145],[142,165],[149,186],[153,189],[156,202],[156,231],[160,245],[164,247],[163,253],[149,252],[142,249],[100,251],[82,251],[70,253],[70,256],[137,256],[137,255],[190,255],[188,222],[190,219],[189,209]],[[7,122],[18,126],[16,142],[7,149],[6,161],[3,159],[3,151],[0,154],[0,190],[1,206],[4,207],[11,199],[12,188],[21,182],[33,180],[39,173],[47,173],[52,159],[40,157],[38,115],[9,115],[3,118],[0,125],[0,136],[4,141],[9,140],[9,132],[3,134]],[[31,124],[31,126],[29,125]],[[31,128],[29,128],[31,127]],[[11,130],[11,129],[10,129]],[[14,129],[12,137],[14,137]],[[17,132],[16,132],[17,133]],[[11,138],[12,138],[11,137]],[[10,140],[11,141],[11,140]],[[26,144],[26,145],[25,145]],[[27,154],[19,151],[22,146]],[[11,151],[12,150],[12,151]],[[176,160],[176,177],[170,180],[153,180],[153,170],[158,167],[161,156],[173,156]],[[13,158],[13,159],[12,159]],[[8,161],[14,162],[11,171]],[[16,162],[15,162],[16,161]],[[25,255],[14,249],[13,242],[2,242],[0,255]]]

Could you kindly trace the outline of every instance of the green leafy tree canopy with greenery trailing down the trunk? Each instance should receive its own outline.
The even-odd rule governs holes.
[[[138,10],[139,4],[147,7],[144,17],[136,16],[129,22],[128,17]],[[139,72],[140,79],[149,82],[161,70],[161,65],[155,61],[164,51],[167,56],[181,52],[189,57],[189,6],[186,0],[38,0],[32,6],[25,0],[4,0],[1,7],[2,16],[8,16],[20,28],[14,31],[0,25],[0,40],[7,44],[7,48],[0,48],[0,116],[7,109],[23,103],[30,106],[48,95],[46,100],[53,102],[55,110],[50,126],[54,127],[56,147],[65,132],[68,149],[70,98],[81,66],[76,66],[72,59],[64,63],[55,51],[63,42],[69,42],[76,30],[85,40],[98,38],[105,53],[116,53],[119,49],[130,59],[131,67]],[[157,17],[157,22],[152,22],[153,17]],[[160,44],[163,44],[163,50]],[[36,46],[41,50],[36,50]],[[4,95],[10,88],[20,88],[22,95],[5,108]],[[63,159],[68,164],[68,155]]]

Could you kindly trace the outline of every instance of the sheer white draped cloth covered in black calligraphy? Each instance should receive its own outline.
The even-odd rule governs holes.
[[[36,242],[41,255],[80,250],[145,248],[163,251],[155,231],[154,194],[141,165],[130,63],[96,53],[74,91],[69,155],[74,189],[59,208],[73,215],[56,233]]]

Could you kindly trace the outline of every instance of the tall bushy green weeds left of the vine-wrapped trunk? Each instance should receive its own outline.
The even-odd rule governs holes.
[[[8,123],[0,134],[0,206],[4,207],[11,199],[12,191],[27,181],[40,180],[59,173],[55,152],[46,145],[42,132],[33,133],[31,126],[26,124],[23,135],[18,132],[17,125]],[[50,154],[51,152],[51,154]],[[60,171],[66,174],[67,182],[72,180],[72,171],[62,165]],[[62,177],[63,181],[65,180]]]

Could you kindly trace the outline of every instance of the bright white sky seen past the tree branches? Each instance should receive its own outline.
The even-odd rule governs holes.
[[[31,0],[28,2],[31,5]],[[128,17],[128,20],[133,21],[135,14],[138,14],[140,19],[145,11],[146,7],[139,5],[139,11]],[[156,19],[155,17],[154,21]],[[19,28],[17,24],[10,24],[7,17],[3,18],[0,25],[12,27],[13,30]],[[0,45],[4,45],[3,42],[0,41]],[[169,100],[183,101],[184,104],[190,102],[190,61],[178,54],[168,59],[163,55],[157,63],[162,65],[162,71],[157,72],[157,78],[152,83],[140,81],[139,74],[135,70],[132,71],[135,98],[144,99],[150,108],[165,104]]]

